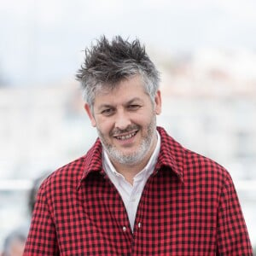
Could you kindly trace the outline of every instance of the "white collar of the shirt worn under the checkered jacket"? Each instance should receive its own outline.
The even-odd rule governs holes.
[[[154,152],[151,155],[150,159],[148,160],[147,165],[143,168],[143,170],[141,172],[137,173],[137,175],[134,177],[134,180],[139,181],[139,180],[143,179],[143,177],[147,177],[152,172],[154,172],[154,166],[156,164],[158,155],[160,153],[160,134],[158,131],[156,131],[156,135],[157,135],[157,143],[154,148]],[[104,166],[104,169],[107,172],[107,174],[109,174],[109,172],[111,172],[115,177],[119,177],[122,179],[125,178],[123,175],[121,175],[119,172],[116,171],[116,169],[114,168],[112,162],[110,161],[110,159],[108,157],[106,150],[103,150],[102,157],[103,157],[103,166]]]

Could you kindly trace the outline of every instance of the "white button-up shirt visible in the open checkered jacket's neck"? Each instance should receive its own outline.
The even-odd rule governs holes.
[[[103,168],[115,188],[118,189],[119,194],[124,201],[126,212],[128,213],[128,218],[131,225],[131,230],[133,230],[137,206],[143,193],[144,186],[148,180],[148,177],[152,174],[152,172],[154,172],[154,166],[160,153],[160,134],[158,131],[156,131],[156,133],[157,143],[154,148],[154,152],[148,160],[147,166],[145,166],[141,172],[138,172],[137,175],[133,177],[133,185],[127,182],[125,177],[115,170],[108,158],[107,152],[103,150]]]

